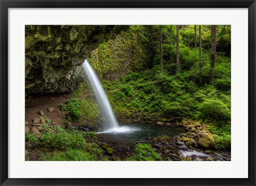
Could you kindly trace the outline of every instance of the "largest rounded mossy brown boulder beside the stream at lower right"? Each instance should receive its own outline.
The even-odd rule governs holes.
[[[214,146],[214,138],[209,133],[197,133],[195,141],[203,149],[212,149]]]

